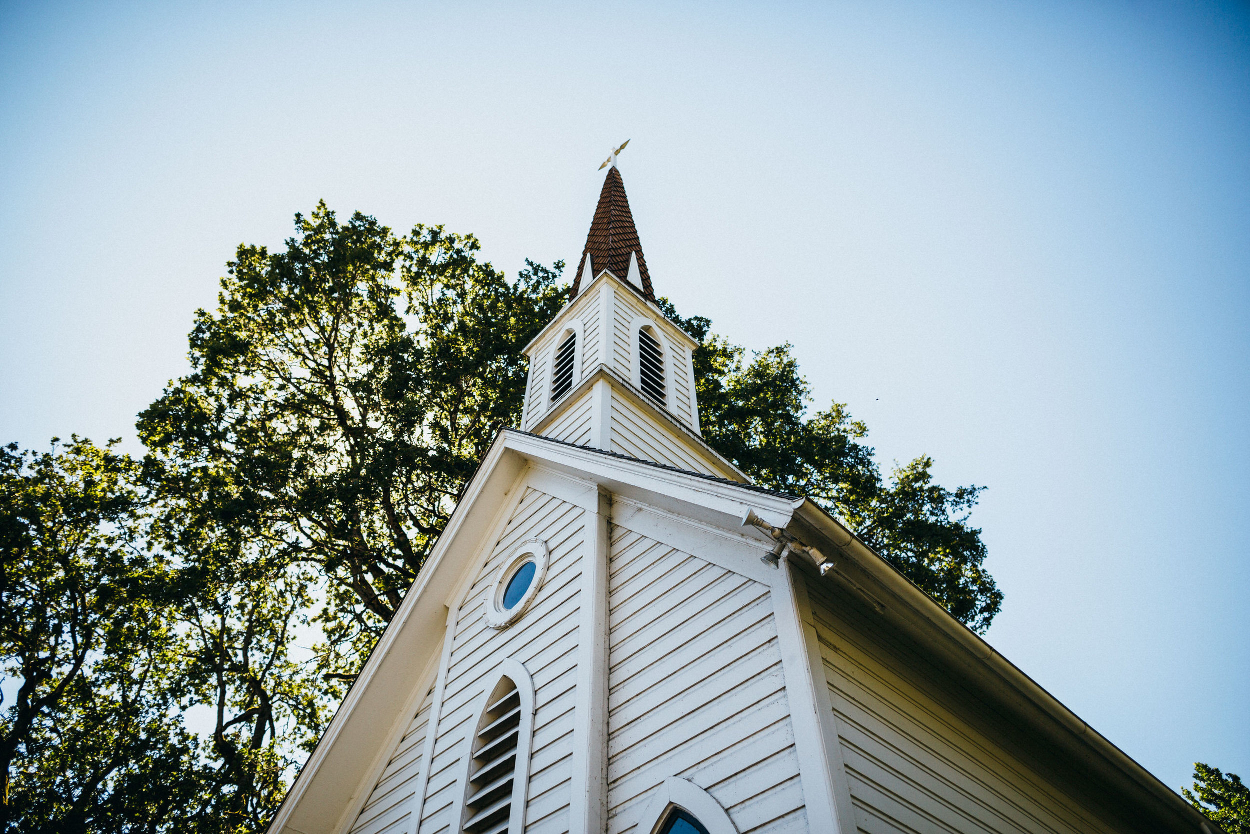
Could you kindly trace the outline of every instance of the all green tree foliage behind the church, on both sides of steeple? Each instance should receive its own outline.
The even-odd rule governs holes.
[[[280,253],[239,246],[190,373],[139,418],[141,463],[75,439],[0,456],[8,831],[260,831],[396,611],[498,430],[521,348],[566,300],[470,235],[324,204]],[[748,358],[710,321],[708,441],[810,495],[959,619],[1001,594],[979,489],[928,458],[884,478],[840,404],[811,413],[789,345]]]

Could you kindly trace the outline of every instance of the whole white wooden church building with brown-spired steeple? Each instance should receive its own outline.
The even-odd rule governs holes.
[[[575,276],[271,834],[1218,830],[702,440],[615,158]]]

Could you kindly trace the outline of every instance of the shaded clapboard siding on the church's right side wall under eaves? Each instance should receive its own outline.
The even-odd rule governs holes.
[[[824,583],[808,585],[860,830],[1114,830],[965,720]]]

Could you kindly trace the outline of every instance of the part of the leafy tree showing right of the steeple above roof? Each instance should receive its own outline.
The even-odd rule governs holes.
[[[922,455],[881,476],[868,426],[834,403],[808,413],[810,386],[789,344],[745,360],[745,351],[710,334],[711,321],[660,306],[695,336],[695,390],[709,445],[762,485],[808,495],[840,515],[870,546],[956,619],[984,633],[1002,593],[984,568],[981,531],[969,524],[980,486],[946,489]]]

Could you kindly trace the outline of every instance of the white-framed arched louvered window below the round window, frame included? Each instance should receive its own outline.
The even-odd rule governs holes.
[[[509,658],[488,678],[494,685],[479,699],[478,723],[468,739],[460,830],[465,834],[521,834],[534,735],[534,683]]]

